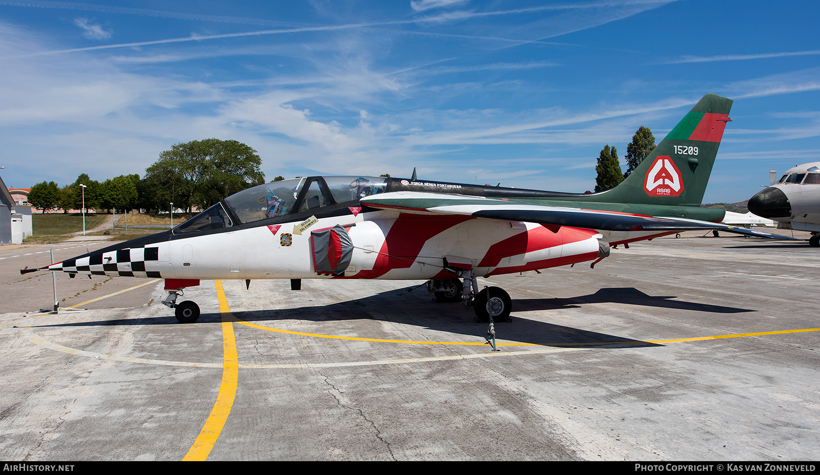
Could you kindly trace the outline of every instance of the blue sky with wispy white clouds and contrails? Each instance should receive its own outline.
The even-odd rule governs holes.
[[[735,100],[705,203],[820,160],[817,2],[0,0],[8,186],[144,174],[236,139],[267,179],[582,192],[604,145]],[[624,167],[626,168],[626,167]]]

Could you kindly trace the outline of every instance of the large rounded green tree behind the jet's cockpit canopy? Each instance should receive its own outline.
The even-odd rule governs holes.
[[[145,170],[157,187],[157,202],[191,212],[210,207],[230,194],[265,182],[256,150],[236,140],[204,139],[175,144]]]

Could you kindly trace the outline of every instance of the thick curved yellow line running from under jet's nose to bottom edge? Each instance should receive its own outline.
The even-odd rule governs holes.
[[[216,395],[216,402],[211,409],[202,431],[199,432],[194,445],[191,445],[188,454],[185,454],[183,461],[205,460],[211,453],[216,439],[225,427],[225,422],[230,415],[230,409],[234,405],[236,397],[236,386],[239,381],[239,356],[236,352],[236,338],[234,336],[234,320],[228,308],[228,301],[225,299],[225,290],[222,289],[222,281],[215,281],[216,295],[219,298],[219,311],[222,314],[222,382],[219,386],[219,394]]]

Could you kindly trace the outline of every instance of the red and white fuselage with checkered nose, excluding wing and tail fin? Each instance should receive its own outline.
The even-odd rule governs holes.
[[[244,190],[171,231],[69,259],[53,270],[164,279],[421,280],[452,276],[444,270],[446,259],[450,265],[469,268],[477,276],[493,276],[591,261],[602,257],[602,249],[610,244],[668,234],[571,226],[549,230],[531,222],[369,208],[360,201],[393,191],[461,194],[642,216],[704,221],[722,218],[722,210],[596,200],[604,194],[314,176]],[[346,234],[350,242],[344,268],[321,272],[317,249],[327,243],[320,242],[326,238],[315,233],[337,225],[342,231],[335,232]],[[338,243],[330,244],[332,248]],[[332,253],[333,249],[321,252]]]

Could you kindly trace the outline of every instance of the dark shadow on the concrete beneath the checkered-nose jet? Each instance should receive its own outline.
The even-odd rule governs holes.
[[[607,288],[591,295],[581,295],[568,299],[515,299],[515,312],[534,310],[553,310],[563,308],[581,308],[584,304],[622,303],[645,305],[656,308],[677,308],[710,313],[740,313],[751,310],[745,308],[723,307],[710,304],[681,302],[673,296],[646,295],[635,288]],[[239,320],[253,322],[266,327],[276,327],[277,322],[300,320],[306,322],[343,322],[351,320],[372,320],[376,322],[395,322],[433,331],[444,331],[461,335],[467,339],[483,340],[487,329],[486,323],[475,322],[472,309],[461,304],[435,304],[430,301],[426,291],[405,293],[403,290],[388,290],[363,299],[354,299],[324,306],[298,306],[294,308],[265,310],[233,310],[231,313]],[[158,308],[166,313],[157,317],[126,318],[96,322],[63,323],[43,327],[98,327],[98,326],[153,326],[153,325],[198,325],[221,322],[220,313],[203,313],[193,324],[181,324],[176,321],[171,311]],[[646,347],[662,346],[646,341],[623,336],[609,335],[576,327],[565,327],[549,322],[534,320],[512,314],[512,323],[496,325],[497,337],[500,340],[521,342],[530,345],[544,345],[562,348],[590,347]],[[321,331],[317,331],[321,333]],[[397,339],[384,334],[361,335],[369,338]],[[403,338],[399,338],[403,339]]]

